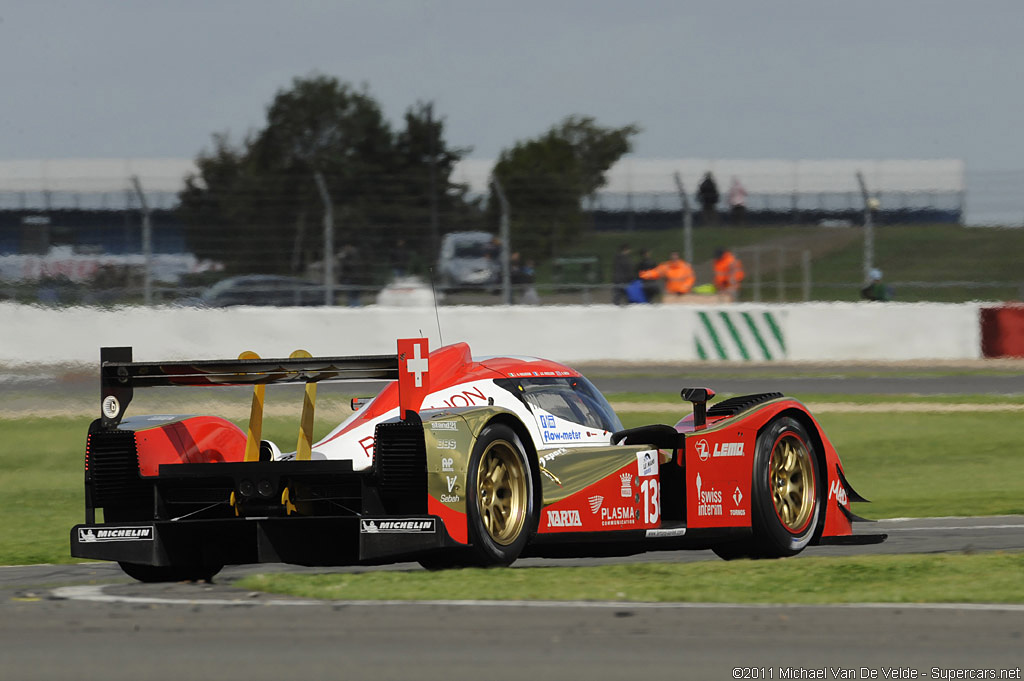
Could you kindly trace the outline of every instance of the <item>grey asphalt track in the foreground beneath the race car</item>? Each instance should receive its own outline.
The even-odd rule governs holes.
[[[1024,516],[868,529],[890,539],[804,555],[1024,548]],[[683,551],[517,565],[637,560],[717,558]],[[171,585],[131,582],[109,563],[0,568],[0,679],[729,679],[734,667],[764,668],[760,678],[835,678],[834,668],[861,667],[876,678],[890,668],[943,678],[1024,664],[1024,605],[499,604],[457,593],[430,603],[322,602],[232,586],[268,568],[284,566]]]

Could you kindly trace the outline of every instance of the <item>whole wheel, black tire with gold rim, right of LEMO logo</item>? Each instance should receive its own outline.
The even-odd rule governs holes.
[[[753,537],[715,547],[721,558],[781,558],[804,550],[822,513],[821,474],[807,429],[790,417],[758,435],[751,483]]]

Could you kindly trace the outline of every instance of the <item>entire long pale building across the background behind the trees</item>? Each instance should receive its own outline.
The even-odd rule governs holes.
[[[453,180],[476,195],[487,193],[494,161],[467,159]],[[184,229],[175,207],[188,159],[66,159],[0,161],[0,254],[135,254],[141,251],[140,206],[132,188],[137,176],[152,210],[154,252],[185,253]],[[585,200],[598,229],[675,228],[682,178],[692,200],[703,173],[738,177],[749,191],[749,224],[859,224],[863,173],[879,200],[877,221],[962,222],[965,163],[939,161],[728,161],[633,159],[615,164],[607,184]]]

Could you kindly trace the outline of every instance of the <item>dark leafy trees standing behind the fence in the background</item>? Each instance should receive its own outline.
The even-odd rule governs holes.
[[[496,231],[499,202],[453,179],[470,148],[444,138],[444,119],[418,101],[398,126],[366,86],[314,75],[280,90],[265,125],[238,143],[214,134],[185,179],[179,214],[189,248],[227,271],[301,273],[324,260],[325,204],[335,215],[336,253],[386,260],[403,240],[430,262],[449,231]],[[512,206],[511,248],[542,259],[587,227],[582,200],[631,151],[635,125],[608,128],[570,116],[504,150],[493,171]]]

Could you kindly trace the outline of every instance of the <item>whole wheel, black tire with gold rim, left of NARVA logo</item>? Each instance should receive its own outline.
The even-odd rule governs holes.
[[[537,530],[538,502],[526,449],[508,426],[486,426],[473,445],[466,507],[473,562],[511,565]]]

